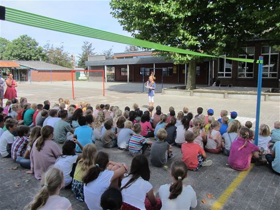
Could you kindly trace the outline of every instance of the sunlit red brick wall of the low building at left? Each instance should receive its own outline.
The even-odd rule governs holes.
[[[76,74],[73,72],[73,79],[76,80]],[[52,71],[51,81],[71,81],[71,71]],[[31,71],[31,81],[49,82],[50,71]]]

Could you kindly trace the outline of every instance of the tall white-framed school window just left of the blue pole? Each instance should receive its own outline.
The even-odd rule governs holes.
[[[247,47],[241,48],[241,52],[238,57],[245,59],[254,59],[255,48]],[[254,63],[240,62],[238,61],[238,77],[239,78],[253,78],[254,73]]]

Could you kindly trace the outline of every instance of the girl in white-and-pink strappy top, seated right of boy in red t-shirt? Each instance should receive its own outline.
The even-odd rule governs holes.
[[[211,123],[207,135],[206,151],[209,153],[220,153],[222,149],[222,135],[220,133],[221,124],[215,120]]]

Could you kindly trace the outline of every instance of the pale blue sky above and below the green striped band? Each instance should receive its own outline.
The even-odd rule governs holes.
[[[113,32],[125,36],[130,33],[123,31],[118,20],[110,14],[111,8],[109,0],[1,0],[0,5],[36,13],[39,15],[88,26],[108,32]],[[18,38],[27,34],[36,39],[40,46],[44,46],[49,41],[50,44],[60,46],[63,43],[64,49],[76,56],[79,53],[84,41],[93,43],[94,52],[101,54],[103,50],[113,49],[113,52],[124,52],[124,44],[97,40],[88,37],[65,34],[46,29],[25,26],[8,21],[0,21],[0,36],[8,40]]]

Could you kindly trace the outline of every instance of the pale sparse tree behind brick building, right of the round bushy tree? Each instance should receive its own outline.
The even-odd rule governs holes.
[[[49,42],[44,46],[44,52],[47,55],[46,61],[48,63],[64,66],[71,68],[71,56],[68,52],[64,51],[64,46],[61,43],[61,46],[59,47],[53,47],[53,45],[50,45]]]

